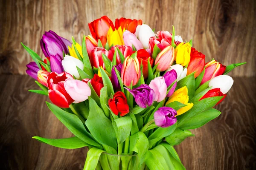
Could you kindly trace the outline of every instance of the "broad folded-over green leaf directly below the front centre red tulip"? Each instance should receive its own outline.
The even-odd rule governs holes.
[[[121,144],[125,141],[126,138],[128,138],[128,136],[130,136],[132,125],[131,117],[123,116],[118,119],[114,119],[112,121],[112,125],[116,133],[116,139],[118,144]]]

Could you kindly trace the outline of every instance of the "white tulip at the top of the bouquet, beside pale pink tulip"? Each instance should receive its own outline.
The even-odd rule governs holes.
[[[155,34],[152,31],[152,29],[146,24],[137,26],[135,35],[140,40],[144,48],[149,48],[148,46],[149,38],[155,37]]]

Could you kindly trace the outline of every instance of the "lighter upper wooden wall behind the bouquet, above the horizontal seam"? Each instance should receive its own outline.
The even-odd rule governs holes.
[[[44,31],[81,42],[90,34],[87,24],[102,15],[142,19],[156,30],[172,31],[174,25],[206,61],[247,62],[233,76],[256,76],[255,0],[1,0],[0,73],[25,74],[32,59],[20,42],[43,58]]]

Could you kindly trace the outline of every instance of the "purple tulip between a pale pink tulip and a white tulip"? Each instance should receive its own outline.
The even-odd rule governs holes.
[[[166,82],[166,86],[168,88],[169,85],[171,85],[177,79],[177,72],[174,69],[172,69],[170,71],[167,71],[166,74],[163,75],[163,77]],[[177,82],[175,82],[175,84],[172,86],[171,90],[167,94],[167,97],[172,96],[176,86],[177,86]]]

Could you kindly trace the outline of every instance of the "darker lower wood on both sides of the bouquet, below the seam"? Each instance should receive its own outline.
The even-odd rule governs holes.
[[[256,77],[235,78],[217,119],[192,130],[195,137],[176,146],[187,170],[256,169]],[[72,133],[33,94],[34,79],[0,75],[0,164],[8,170],[82,170],[86,148],[52,147],[32,136],[66,138]]]

